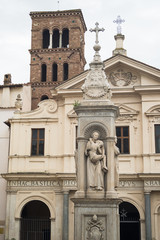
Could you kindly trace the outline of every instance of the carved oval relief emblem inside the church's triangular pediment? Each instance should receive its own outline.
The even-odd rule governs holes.
[[[109,74],[108,80],[113,86],[124,87],[128,85],[134,85],[137,82],[138,77],[132,71],[118,68]]]

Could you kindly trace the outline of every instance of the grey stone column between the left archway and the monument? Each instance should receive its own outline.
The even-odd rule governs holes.
[[[63,240],[68,240],[68,210],[69,210],[69,192],[63,193]]]

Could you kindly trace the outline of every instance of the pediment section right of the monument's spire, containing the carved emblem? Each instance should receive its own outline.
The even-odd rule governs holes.
[[[160,84],[160,69],[127,56],[118,54],[104,64],[111,88]]]

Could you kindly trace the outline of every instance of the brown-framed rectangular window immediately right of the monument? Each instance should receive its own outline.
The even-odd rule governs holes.
[[[129,127],[116,127],[117,147],[122,154],[129,153]]]

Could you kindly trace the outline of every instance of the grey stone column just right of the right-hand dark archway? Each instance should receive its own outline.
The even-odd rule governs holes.
[[[151,199],[150,192],[144,193],[145,197],[145,225],[146,225],[146,240],[151,240]]]

